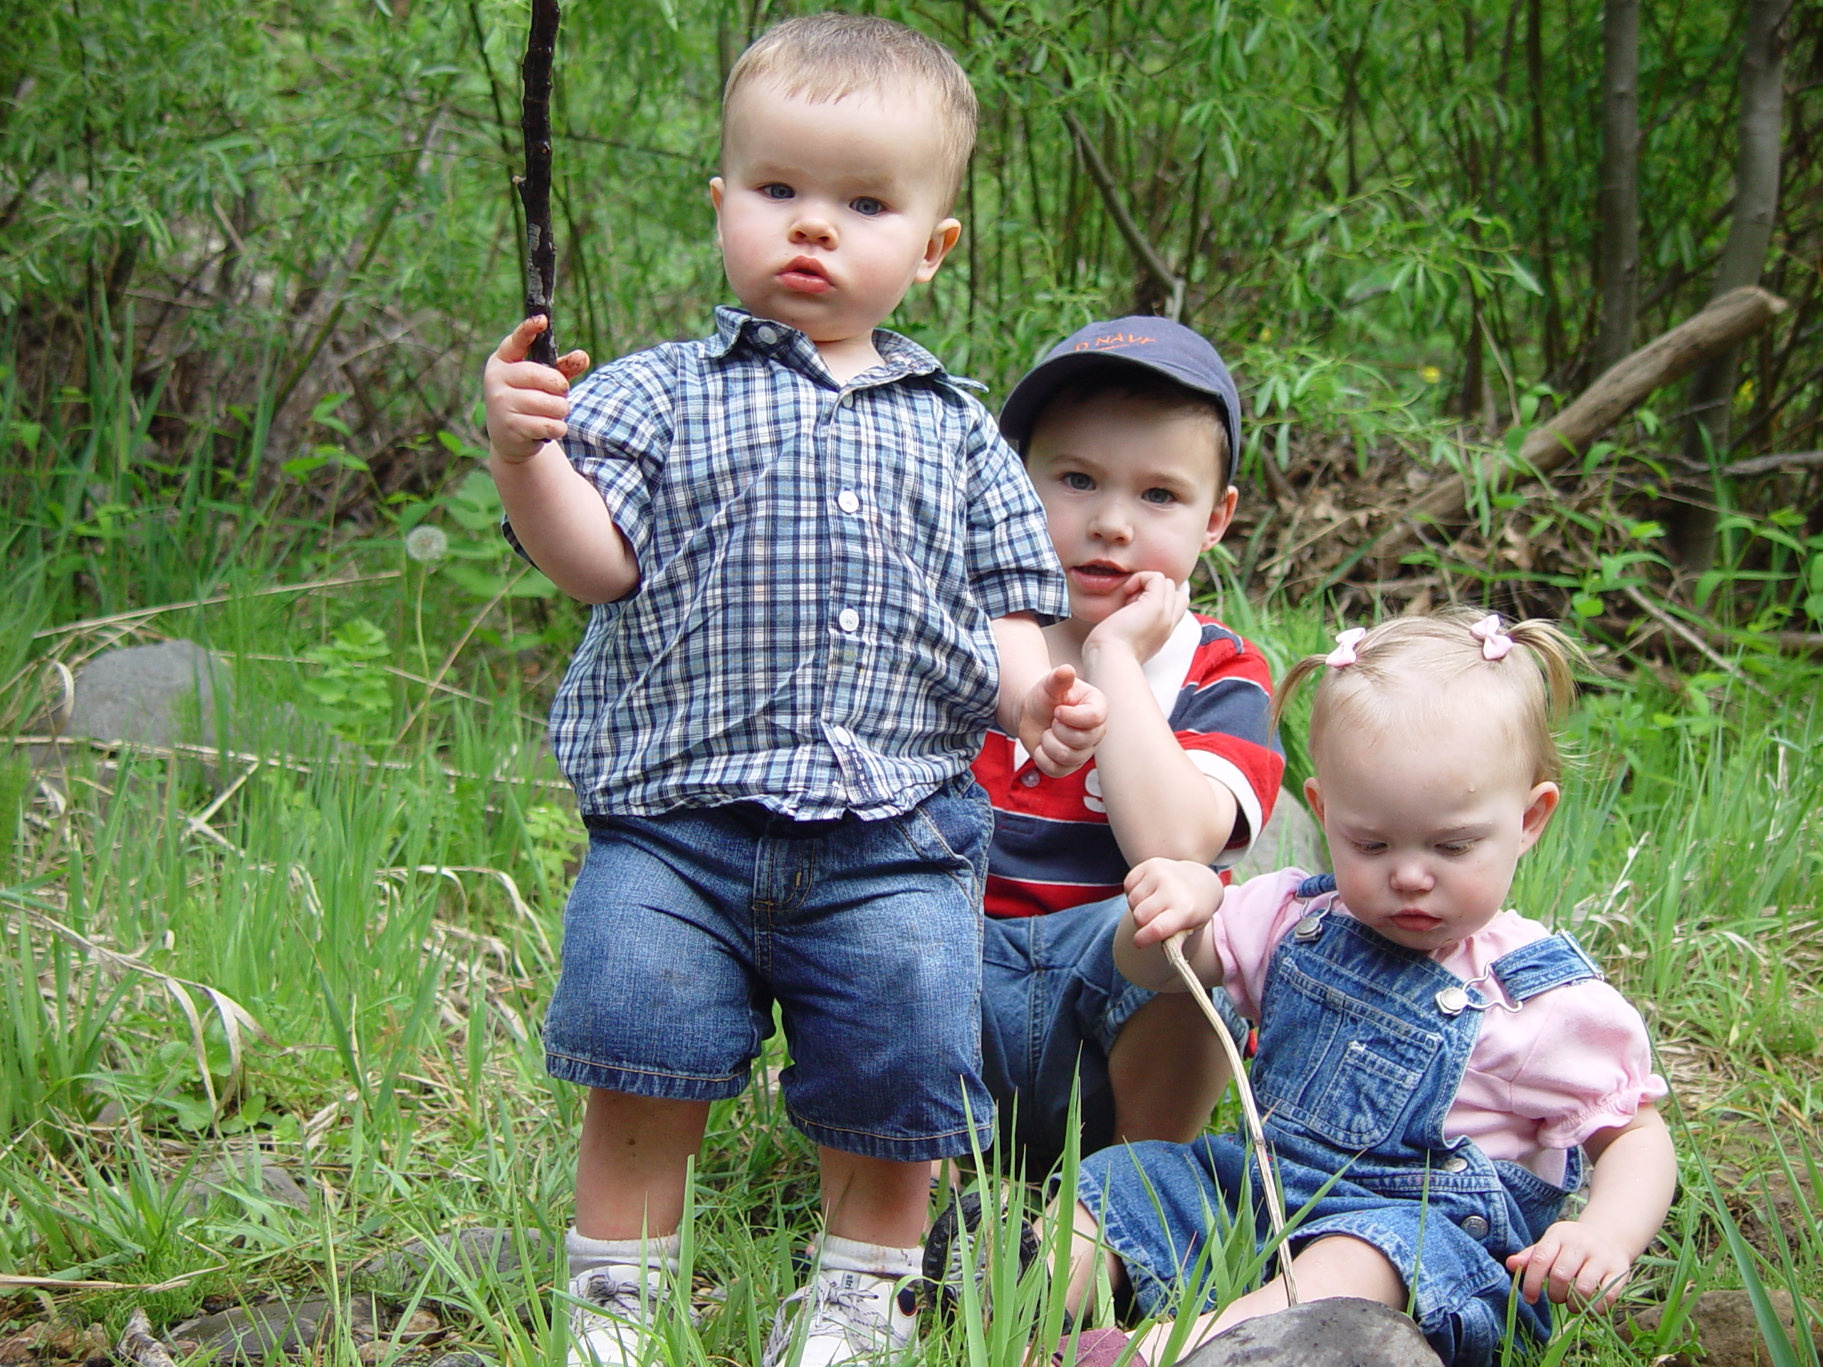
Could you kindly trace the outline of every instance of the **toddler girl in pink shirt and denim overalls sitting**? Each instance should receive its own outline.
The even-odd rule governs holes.
[[[1546,622],[1449,612],[1345,631],[1280,693],[1283,705],[1316,676],[1305,797],[1334,875],[1223,889],[1207,868],[1150,860],[1127,880],[1121,971],[1181,992],[1163,940],[1189,930],[1198,977],[1260,1023],[1251,1077],[1298,1298],[1409,1305],[1446,1363],[1497,1358],[1513,1278],[1537,1343],[1551,1332],[1540,1296],[1612,1303],[1675,1185],[1639,1013],[1575,939],[1502,910],[1557,809],[1550,727],[1575,658]],[[1560,1219],[1584,1156],[1588,1203]],[[1147,1314],[1218,1310],[1192,1345],[1283,1309],[1283,1278],[1225,1307],[1178,1300],[1212,1212],[1232,1214],[1243,1190],[1263,1236],[1240,1137],[1085,1157],[1072,1309],[1096,1258]],[[1169,1331],[1141,1354],[1158,1360]]]

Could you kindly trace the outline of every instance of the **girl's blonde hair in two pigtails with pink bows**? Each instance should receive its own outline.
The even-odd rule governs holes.
[[[1451,607],[1431,616],[1391,618],[1354,643],[1354,660],[1347,665],[1331,665],[1327,654],[1307,654],[1285,673],[1272,700],[1272,724],[1313,674],[1313,756],[1331,725],[1380,725],[1389,720],[1396,704],[1409,702],[1411,694],[1402,685],[1413,680],[1435,685],[1438,694],[1473,689],[1502,740],[1531,760],[1529,782],[1557,782],[1564,766],[1551,725],[1570,707],[1575,669],[1588,669],[1588,656],[1551,622],[1528,618],[1500,623],[1499,631],[1511,638],[1513,649],[1488,660],[1482,638],[1471,632],[1486,616]]]

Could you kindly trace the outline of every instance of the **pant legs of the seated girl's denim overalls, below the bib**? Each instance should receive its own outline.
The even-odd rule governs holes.
[[[1491,1367],[1499,1360],[1509,1298],[1520,1341],[1544,1343],[1551,1336],[1550,1305],[1517,1300],[1504,1259],[1544,1234],[1564,1190],[1517,1163],[1491,1163],[1478,1150],[1473,1165],[1473,1172],[1486,1172],[1497,1183],[1495,1190],[1504,1185],[1511,1208],[1513,1232],[1506,1241],[1495,1239],[1495,1247],[1453,1218],[1447,1192],[1433,1192],[1429,1201],[1422,1187],[1418,1196],[1387,1196],[1349,1181],[1345,1156],[1338,1156],[1340,1177],[1287,1163],[1283,1156],[1276,1165],[1294,1227],[1293,1250],[1333,1234],[1371,1243],[1413,1289],[1418,1329],[1451,1367]],[[1145,1314],[1178,1314],[1179,1301],[1196,1290],[1190,1280],[1203,1245],[1236,1219],[1243,1188],[1258,1203],[1260,1168],[1240,1137],[1210,1136],[1192,1145],[1152,1141],[1087,1157],[1077,1201],[1096,1216],[1103,1241],[1127,1269],[1134,1305]],[[1263,1207],[1251,1214],[1263,1238]],[[1210,1296],[1198,1309],[1218,1307]]]

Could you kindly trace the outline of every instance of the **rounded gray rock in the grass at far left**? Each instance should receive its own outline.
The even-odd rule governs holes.
[[[195,642],[108,651],[77,674],[64,735],[93,740],[215,744],[217,713],[232,700],[228,662]]]

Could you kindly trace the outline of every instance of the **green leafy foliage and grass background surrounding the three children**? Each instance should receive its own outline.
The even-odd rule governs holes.
[[[1597,649],[1571,724],[1584,767],[1517,897],[1575,922],[1644,1002],[1684,1196],[1633,1289],[1661,1327],[1626,1347],[1581,1320],[1553,1352],[1652,1362],[1703,1289],[1814,1292],[1816,467],[1684,468],[1666,392],[1553,485],[1478,490],[1458,543],[1294,563],[1327,518],[1473,468],[1588,381],[1599,7],[875,9],[948,42],[984,108],[964,244],[895,324],[1004,392],[1066,330],[1161,303],[1072,146],[1079,120],[1252,406],[1249,521],[1205,585],[1229,622],[1283,663],[1340,611],[1455,596],[1577,618]],[[1643,18],[1641,341],[1708,297],[1741,9]],[[609,357],[707,326],[716,93],[791,11],[565,5],[565,346]],[[0,720],[42,736],[58,665],[160,636],[219,651],[261,707],[201,751],[0,751],[0,1272],[188,1278],[0,1298],[0,1332],[343,1296],[350,1258],[412,1234],[565,1223],[576,1095],[543,1077],[536,1019],[582,835],[538,738],[580,612],[505,550],[476,468],[478,368],[520,301],[523,20],[505,0],[7,11]],[[1766,281],[1792,308],[1748,348],[1717,467],[1816,445],[1819,42],[1823,11],[1796,5]],[[1674,488],[1726,514],[1697,581],[1659,549]],[[441,549],[412,558],[428,532]],[[1296,766],[1296,718],[1287,749]],[[310,1208],[250,1183],[191,1207],[184,1172],[222,1146],[292,1167]],[[773,1088],[716,1108],[693,1247],[727,1298],[667,1325],[675,1362],[757,1358],[815,1232],[809,1165]],[[1251,1259],[1231,1241],[1210,1276],[1245,1285]],[[1012,1367],[1025,1325],[1056,1336],[1043,1278],[1017,1289],[1006,1249],[992,1265],[995,1303],[1026,1309],[939,1332],[935,1360]],[[552,1272],[448,1278],[452,1332],[561,1358]],[[525,1294],[541,1309],[521,1321]],[[321,1356],[376,1354],[337,1331]],[[1807,1331],[1774,1360],[1816,1362]]]

